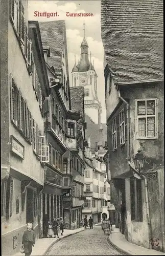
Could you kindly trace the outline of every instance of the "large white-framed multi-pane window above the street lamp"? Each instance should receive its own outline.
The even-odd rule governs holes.
[[[138,138],[157,138],[156,99],[135,100]]]

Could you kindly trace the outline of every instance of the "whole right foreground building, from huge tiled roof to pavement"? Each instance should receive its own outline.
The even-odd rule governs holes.
[[[101,15],[110,174],[120,230],[132,243],[164,251],[162,1],[102,1]],[[134,165],[138,149],[145,156],[144,176]]]

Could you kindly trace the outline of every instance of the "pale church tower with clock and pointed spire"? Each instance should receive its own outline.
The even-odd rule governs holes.
[[[98,75],[95,71],[94,64],[91,63],[88,56],[88,44],[85,39],[85,23],[84,25],[84,38],[81,43],[81,56],[78,65],[75,65],[72,69],[72,87],[84,86],[84,108],[85,114],[88,115],[95,123],[101,123],[101,103],[98,99],[97,92],[97,79]]]

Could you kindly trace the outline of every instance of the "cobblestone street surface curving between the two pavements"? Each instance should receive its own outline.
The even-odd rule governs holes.
[[[65,232],[65,230],[64,230]],[[87,229],[57,242],[47,255],[124,255],[113,248],[101,226]]]

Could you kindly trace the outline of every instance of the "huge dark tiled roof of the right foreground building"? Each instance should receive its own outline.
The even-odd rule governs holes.
[[[163,78],[162,0],[102,0],[101,34],[114,82]]]

